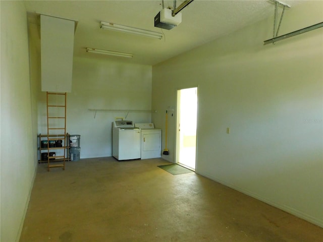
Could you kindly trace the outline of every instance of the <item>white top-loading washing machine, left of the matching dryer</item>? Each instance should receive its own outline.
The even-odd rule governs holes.
[[[117,160],[140,159],[140,128],[132,121],[117,120],[113,122],[112,156]]]

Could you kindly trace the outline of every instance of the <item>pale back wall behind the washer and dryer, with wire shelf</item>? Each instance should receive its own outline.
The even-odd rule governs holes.
[[[67,132],[81,135],[81,158],[112,156],[112,122],[127,112],[88,109],[151,110],[151,66],[104,56],[99,61],[74,58],[72,92],[67,96]],[[118,57],[117,57],[118,59]],[[46,133],[46,95],[39,99],[38,133]],[[151,122],[150,112],[129,112],[128,120]]]

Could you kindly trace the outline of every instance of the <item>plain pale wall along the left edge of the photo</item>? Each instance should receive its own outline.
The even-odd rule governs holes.
[[[18,241],[37,167],[23,1],[1,1],[1,241]]]

